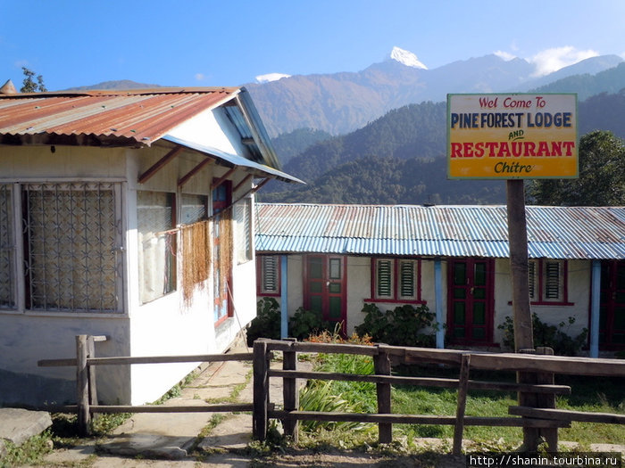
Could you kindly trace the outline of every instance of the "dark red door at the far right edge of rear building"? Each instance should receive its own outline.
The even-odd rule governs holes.
[[[601,263],[599,345],[625,349],[625,261]]]

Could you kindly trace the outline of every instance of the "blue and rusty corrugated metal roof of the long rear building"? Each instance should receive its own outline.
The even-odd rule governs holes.
[[[625,259],[625,207],[526,207],[530,258]],[[257,203],[256,250],[509,256],[505,206]]]

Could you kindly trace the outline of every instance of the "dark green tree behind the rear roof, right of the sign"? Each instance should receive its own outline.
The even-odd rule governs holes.
[[[527,198],[537,205],[625,205],[625,142],[602,130],[582,136],[579,178],[534,180]]]

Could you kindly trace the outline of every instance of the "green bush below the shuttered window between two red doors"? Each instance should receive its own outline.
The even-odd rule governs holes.
[[[433,347],[435,344],[434,333],[423,333],[434,320],[434,313],[425,305],[415,308],[405,304],[383,314],[375,304],[365,304],[362,312],[364,320],[354,330],[360,335],[370,335],[373,341],[394,346]]]

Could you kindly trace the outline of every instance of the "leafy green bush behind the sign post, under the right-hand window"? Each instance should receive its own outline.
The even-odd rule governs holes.
[[[570,316],[568,326],[575,323],[575,317]],[[572,338],[566,333],[564,327],[567,324],[561,322],[558,326],[541,322],[537,314],[532,314],[532,329],[534,332],[534,346],[547,346],[554,349],[554,354],[559,356],[576,356],[579,350],[586,344],[588,330],[584,328],[582,333]],[[504,330],[504,346],[514,349],[514,321],[506,316],[504,323],[497,326]],[[567,327],[568,330],[568,327]]]

